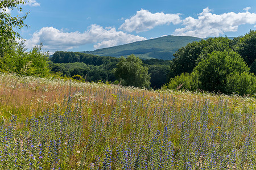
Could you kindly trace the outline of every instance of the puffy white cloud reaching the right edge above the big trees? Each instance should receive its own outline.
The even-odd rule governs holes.
[[[246,12],[229,12],[224,14],[212,14],[209,8],[205,8],[197,19],[189,16],[183,20],[184,28],[175,29],[174,35],[195,36],[200,38],[220,36],[224,32],[236,32],[239,25],[255,24],[256,14]]]

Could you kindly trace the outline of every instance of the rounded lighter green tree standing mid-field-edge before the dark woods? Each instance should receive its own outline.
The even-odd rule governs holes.
[[[115,75],[123,86],[149,87],[150,74],[148,68],[142,66],[142,61],[133,54],[126,59],[121,57],[115,70]]]

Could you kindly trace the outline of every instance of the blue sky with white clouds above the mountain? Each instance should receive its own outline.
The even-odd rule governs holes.
[[[27,0],[24,0],[27,1]],[[30,0],[19,33],[28,49],[81,52],[156,37],[237,37],[256,29],[254,0]]]

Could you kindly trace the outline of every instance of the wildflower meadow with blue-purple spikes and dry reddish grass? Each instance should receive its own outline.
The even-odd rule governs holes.
[[[251,97],[0,74],[0,169],[255,169]]]

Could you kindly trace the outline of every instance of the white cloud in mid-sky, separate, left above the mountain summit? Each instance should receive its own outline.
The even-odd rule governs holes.
[[[163,12],[156,12],[152,14],[150,11],[141,9],[137,14],[130,19],[126,19],[125,23],[119,27],[127,32],[143,32],[148,31],[157,25],[164,24],[179,24],[181,23],[180,14],[164,14]]]

